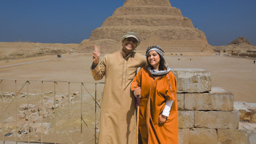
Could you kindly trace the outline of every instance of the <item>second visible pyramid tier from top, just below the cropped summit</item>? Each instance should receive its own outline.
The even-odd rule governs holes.
[[[182,16],[180,9],[176,7],[119,7],[115,10],[112,16],[122,15],[171,15],[171,16]]]

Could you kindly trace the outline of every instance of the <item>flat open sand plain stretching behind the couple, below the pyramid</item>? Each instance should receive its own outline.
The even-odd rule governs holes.
[[[101,58],[103,54],[101,54]],[[47,57],[49,58],[49,56]],[[33,58],[43,59],[42,57]],[[216,55],[186,55],[165,56],[171,68],[202,68],[211,73],[212,87],[222,87],[234,94],[235,101],[256,103],[256,64],[250,59],[232,58]],[[180,59],[180,60],[178,60]],[[190,60],[191,59],[191,60]],[[22,60],[21,60],[22,61]],[[10,64],[20,63],[16,60]],[[28,61],[28,60],[27,60]],[[0,68],[2,79],[29,79],[29,80],[53,80],[53,81],[80,81],[80,82],[104,82],[94,81],[90,72],[92,64],[91,54],[80,54],[66,58],[47,60],[23,64],[14,67]],[[0,63],[0,66],[6,65]],[[24,84],[19,82],[17,84]],[[14,91],[14,81],[3,82],[4,92]],[[32,82],[33,86],[41,91],[41,82]],[[89,91],[95,91],[95,84],[87,84]],[[67,84],[60,83],[66,87]],[[17,86],[17,89],[19,86]],[[64,88],[65,89],[65,88]],[[71,84],[72,91],[81,91],[81,84]],[[53,82],[45,83],[44,91],[53,91]],[[103,84],[97,85],[97,91],[102,92]],[[29,90],[32,92],[32,89]],[[56,91],[59,91],[56,89]],[[67,91],[67,90],[66,90]]]

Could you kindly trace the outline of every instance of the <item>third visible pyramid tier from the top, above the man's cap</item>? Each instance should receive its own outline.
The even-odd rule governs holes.
[[[109,17],[102,27],[111,26],[179,26],[194,28],[192,21],[186,17]]]

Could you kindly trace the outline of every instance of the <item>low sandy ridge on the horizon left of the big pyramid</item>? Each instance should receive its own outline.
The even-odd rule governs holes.
[[[79,44],[0,42],[0,60],[13,60],[75,52],[78,45]]]

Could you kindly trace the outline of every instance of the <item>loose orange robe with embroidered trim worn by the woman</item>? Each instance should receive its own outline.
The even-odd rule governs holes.
[[[143,144],[178,144],[177,83],[172,72],[154,78],[148,68],[141,68],[131,90],[141,87],[139,129]],[[149,99],[150,98],[150,99]],[[165,101],[173,100],[170,114],[164,124],[158,123]]]

